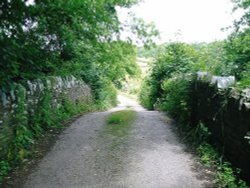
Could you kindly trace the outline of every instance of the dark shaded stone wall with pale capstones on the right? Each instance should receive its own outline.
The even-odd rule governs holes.
[[[208,126],[212,142],[250,182],[250,89],[234,90],[234,82],[234,77],[199,72],[191,96],[192,120]]]

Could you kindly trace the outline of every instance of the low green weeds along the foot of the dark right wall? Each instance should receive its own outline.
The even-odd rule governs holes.
[[[182,126],[179,128],[183,136],[183,141],[197,152],[200,162],[207,168],[215,172],[215,183],[218,188],[247,188],[245,181],[239,178],[240,169],[229,163],[224,155],[209,143],[211,133],[206,125],[199,122],[195,128]]]

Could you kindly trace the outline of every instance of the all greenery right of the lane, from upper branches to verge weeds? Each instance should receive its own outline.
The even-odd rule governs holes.
[[[143,81],[139,99],[148,109],[168,112],[182,126],[183,137],[189,140],[201,157],[201,162],[213,166],[218,187],[247,187],[235,169],[223,157],[223,152],[210,142],[210,131],[203,122],[191,117],[192,83],[197,71],[217,76],[235,76],[233,88],[242,91],[250,87],[250,20],[249,0],[235,0],[235,9],[245,14],[234,23],[234,31],[224,41],[186,44],[171,42],[140,49],[140,55],[153,57],[148,77]],[[194,125],[195,124],[195,125]]]

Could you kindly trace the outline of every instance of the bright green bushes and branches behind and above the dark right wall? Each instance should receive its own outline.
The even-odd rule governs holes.
[[[175,111],[178,105],[174,101],[178,101],[176,98],[178,93],[180,97],[185,95],[182,92],[187,92],[185,87],[188,87],[189,83],[189,78],[182,78],[197,71],[207,71],[221,76],[233,75],[237,79],[236,86],[240,89],[250,86],[250,1],[234,2],[235,9],[243,8],[245,14],[240,20],[235,21],[234,31],[227,40],[209,44],[174,42],[149,50],[149,54],[156,56],[151,73],[142,87],[140,94],[142,104],[149,108],[161,104],[165,110],[178,114],[178,111]],[[145,57],[148,57],[145,49],[140,51],[142,55],[146,54]],[[186,84],[178,80],[185,80],[180,82]],[[180,86],[175,87],[175,84]],[[175,94],[171,96],[171,93]],[[180,98],[179,101],[183,100]]]

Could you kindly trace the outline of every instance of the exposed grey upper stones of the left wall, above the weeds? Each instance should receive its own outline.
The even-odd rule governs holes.
[[[3,124],[10,124],[15,116],[15,109],[18,107],[20,92],[27,112],[35,113],[39,108],[39,101],[42,100],[45,91],[52,93],[53,108],[59,108],[63,99],[67,98],[72,103],[90,103],[91,89],[82,80],[73,76],[68,77],[48,77],[45,80],[27,81],[23,85],[16,84],[10,91],[0,90],[0,132]]]

